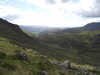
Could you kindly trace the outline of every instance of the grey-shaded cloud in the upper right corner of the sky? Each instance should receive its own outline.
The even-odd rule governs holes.
[[[84,7],[81,9],[79,14],[87,18],[100,17],[100,0],[87,0],[86,6],[84,3]]]

